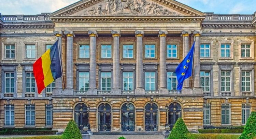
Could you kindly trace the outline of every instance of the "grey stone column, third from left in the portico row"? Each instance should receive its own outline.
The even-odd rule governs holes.
[[[90,74],[88,95],[97,95],[96,87],[96,37],[97,31],[88,31],[90,36]]]

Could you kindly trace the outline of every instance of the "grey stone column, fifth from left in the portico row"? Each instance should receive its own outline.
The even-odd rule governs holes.
[[[136,54],[136,88],[135,93],[143,95],[145,93],[144,87],[143,87],[143,34],[144,31],[135,31],[135,36],[137,38],[137,54]]]

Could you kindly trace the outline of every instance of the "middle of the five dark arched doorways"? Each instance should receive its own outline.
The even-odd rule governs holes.
[[[134,131],[134,106],[131,103],[125,103],[121,113],[122,131]]]

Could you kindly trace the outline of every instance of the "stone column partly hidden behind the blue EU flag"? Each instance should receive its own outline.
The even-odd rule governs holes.
[[[189,51],[188,43],[189,43],[189,34],[191,34],[190,31],[183,31],[182,32],[182,38],[183,38],[183,53],[182,56],[185,58],[187,56],[187,53]],[[182,88],[190,88],[189,87],[189,78],[183,81],[183,87]]]

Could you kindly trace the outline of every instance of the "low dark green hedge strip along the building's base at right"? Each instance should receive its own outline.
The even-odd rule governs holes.
[[[208,130],[198,130],[199,133],[242,133],[244,129],[208,129]]]

